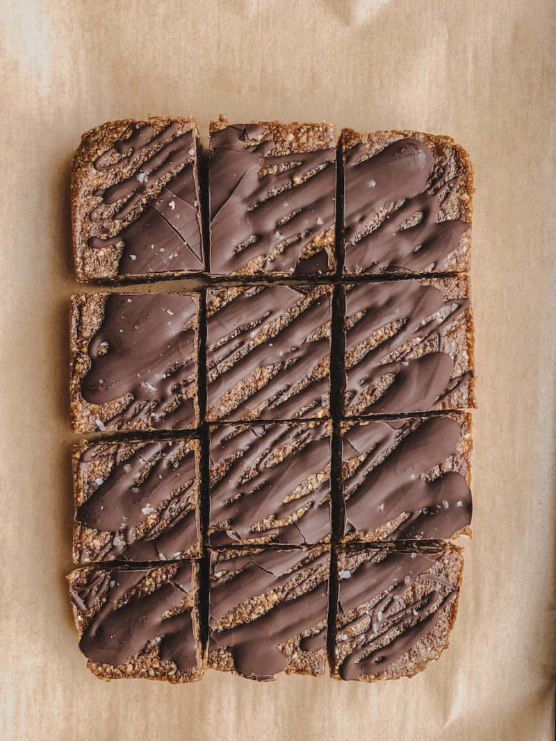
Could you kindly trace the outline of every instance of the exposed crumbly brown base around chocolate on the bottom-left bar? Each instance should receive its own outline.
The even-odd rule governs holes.
[[[193,621],[193,635],[196,640],[196,668],[191,668],[188,671],[179,671],[176,664],[172,661],[161,661],[159,658],[159,645],[153,642],[154,645],[149,645],[143,651],[139,651],[130,657],[124,664],[113,666],[110,664],[99,664],[97,662],[90,661],[87,659],[87,667],[90,671],[95,674],[99,679],[104,679],[106,682],[110,682],[110,679],[158,679],[165,682],[171,682],[172,684],[182,684],[184,682],[196,682],[202,679],[205,673],[206,665],[206,649],[202,646],[199,640],[199,565],[196,562],[192,563],[193,570],[193,588],[188,593],[187,599],[185,599],[184,606],[191,608],[191,618]],[[121,568],[121,567],[120,567]],[[104,571],[110,573],[110,571],[116,570],[115,568],[94,568],[93,571]],[[143,571],[143,569],[128,568],[126,571]],[[147,591],[155,591],[156,588],[162,586],[167,578],[171,578],[172,572],[175,572],[176,564],[162,565],[153,568],[147,576],[150,580],[150,585],[147,586]],[[70,590],[79,579],[85,577],[85,575],[91,571],[90,568],[76,569],[67,576],[67,580],[70,585]],[[170,574],[170,576],[168,576]],[[145,580],[143,579],[142,582]],[[133,590],[134,591],[134,590]],[[133,592],[131,592],[133,594]],[[101,597],[102,599],[102,597]],[[79,611],[76,605],[72,602],[73,619],[76,625],[77,639],[78,642],[87,628],[90,620],[99,611],[102,606],[101,599],[98,599],[94,605],[88,608],[86,611]]]

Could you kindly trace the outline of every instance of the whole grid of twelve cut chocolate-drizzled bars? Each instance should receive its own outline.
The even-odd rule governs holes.
[[[76,153],[78,279],[203,286],[73,296],[80,647],[104,679],[411,677],[470,533],[469,159],[220,119],[205,193],[197,142],[110,122]]]

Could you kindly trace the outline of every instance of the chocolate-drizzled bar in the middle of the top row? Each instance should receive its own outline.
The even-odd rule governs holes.
[[[331,273],[336,148],[328,124],[211,122],[211,273]]]

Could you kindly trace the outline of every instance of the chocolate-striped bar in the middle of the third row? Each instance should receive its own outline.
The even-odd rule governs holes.
[[[212,425],[211,545],[330,539],[331,422]]]

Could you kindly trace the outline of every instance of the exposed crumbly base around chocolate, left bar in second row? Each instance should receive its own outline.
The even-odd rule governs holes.
[[[196,293],[179,293],[180,296],[190,296],[196,304],[195,314],[195,364],[199,358],[199,296]],[[105,305],[109,293],[73,293],[71,296],[70,311],[70,415],[71,430],[77,433],[98,432],[99,430],[116,431],[155,431],[146,420],[119,428],[110,423],[116,414],[124,411],[133,396],[128,393],[106,404],[92,404],[87,402],[81,393],[83,379],[90,368],[90,358],[87,354],[90,339],[100,329],[105,318]],[[194,373],[191,384],[191,396],[195,410],[194,425],[199,425],[199,389],[198,373]],[[99,425],[100,422],[100,425]],[[190,428],[192,429],[192,428]]]

